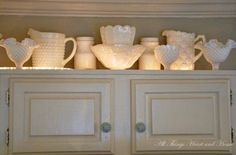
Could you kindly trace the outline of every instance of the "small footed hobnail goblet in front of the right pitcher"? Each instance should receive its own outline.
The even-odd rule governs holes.
[[[170,70],[170,65],[178,58],[179,50],[173,45],[161,45],[154,49],[156,59],[164,66],[165,70]]]

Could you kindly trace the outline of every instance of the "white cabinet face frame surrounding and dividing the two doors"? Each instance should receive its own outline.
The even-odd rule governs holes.
[[[110,71],[110,70],[94,70],[94,71],[74,71],[74,70],[0,70],[0,88],[1,88],[1,111],[0,114],[0,131],[1,133],[8,127],[8,108],[5,104],[5,92],[9,87],[8,78],[23,78],[23,79],[113,79],[114,80],[114,125],[112,132],[114,133],[114,155],[131,155],[131,130],[134,130],[131,126],[131,83],[130,80],[178,80],[178,79],[189,79],[189,80],[199,80],[199,79],[214,79],[214,80],[227,80],[231,79],[231,89],[233,90],[233,102],[235,101],[236,96],[236,72],[235,71],[137,71],[137,70],[127,70],[127,71]],[[27,81],[27,80],[26,80]],[[49,82],[50,83],[50,82]],[[122,90],[122,91],[121,91]],[[69,90],[66,90],[69,91]],[[90,92],[91,93],[91,92]],[[210,93],[211,94],[211,93]],[[211,96],[209,93],[206,96]],[[199,95],[199,94],[198,94]],[[204,96],[200,94],[200,96]],[[214,96],[214,95],[213,95]],[[196,97],[196,96],[195,96]],[[206,101],[206,106],[203,107],[209,108],[211,112],[214,112],[210,107],[212,106],[211,98],[203,99]],[[156,102],[154,100],[154,102]],[[208,106],[207,106],[208,105]],[[153,107],[156,105],[154,104]],[[200,106],[200,109],[202,107]],[[155,110],[156,108],[154,108]],[[191,109],[191,108],[190,108]],[[166,108],[168,112],[168,108]],[[236,118],[235,115],[235,104],[231,109],[232,114],[231,118]],[[163,114],[163,113],[162,113]],[[205,116],[208,117],[210,121],[209,114],[203,112]],[[153,114],[154,117],[158,114]],[[210,119],[209,119],[210,118]],[[196,119],[198,120],[198,119]],[[169,119],[171,121],[171,119]],[[154,121],[155,122],[155,121]],[[158,122],[157,122],[158,123]],[[212,122],[211,122],[212,123]],[[232,119],[232,125],[236,127],[235,119]],[[178,127],[178,126],[174,126]],[[210,131],[210,125],[207,127],[202,127],[202,131]],[[158,129],[158,127],[157,127]],[[162,129],[162,128],[159,128]],[[175,128],[177,130],[177,128]],[[188,128],[188,131],[191,130]],[[181,130],[180,130],[181,131]],[[199,130],[198,130],[199,131]],[[162,130],[162,132],[165,132]],[[170,131],[169,131],[170,132]],[[157,132],[158,133],[158,132]],[[2,134],[4,135],[4,134]],[[7,155],[7,147],[5,142],[1,138],[0,141],[0,155]],[[235,152],[235,146],[233,146],[233,154]],[[180,151],[175,151],[176,153],[182,154]],[[191,151],[190,151],[191,152]],[[169,152],[171,153],[171,151]],[[172,152],[173,153],[173,152]],[[176,154],[174,153],[174,154]],[[218,152],[220,153],[220,152]],[[25,155],[25,153],[20,153],[19,155]],[[36,153],[29,153],[30,155],[36,155]],[[48,153],[43,153],[44,155],[49,155]],[[75,152],[57,152],[56,154],[76,154]],[[83,153],[86,154],[86,153]],[[99,153],[98,153],[99,154]],[[104,154],[104,153],[101,153]],[[156,154],[156,153],[154,153]],[[199,153],[196,153],[199,154]]]

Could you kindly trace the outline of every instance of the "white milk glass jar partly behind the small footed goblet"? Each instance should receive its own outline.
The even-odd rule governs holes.
[[[146,50],[139,58],[140,70],[160,70],[161,64],[154,56],[154,48],[159,45],[158,38],[145,37],[141,39],[141,45]]]

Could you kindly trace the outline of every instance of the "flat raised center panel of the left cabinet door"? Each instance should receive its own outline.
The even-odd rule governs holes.
[[[99,102],[56,97],[58,98],[31,99],[30,109],[26,111],[30,115],[28,125],[30,136],[93,136],[95,134],[94,107]],[[96,110],[99,114],[99,109]]]

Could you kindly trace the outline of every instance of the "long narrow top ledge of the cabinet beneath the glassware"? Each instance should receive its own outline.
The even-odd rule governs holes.
[[[153,75],[153,76],[236,76],[236,70],[74,70],[74,69],[1,69],[0,75]]]

